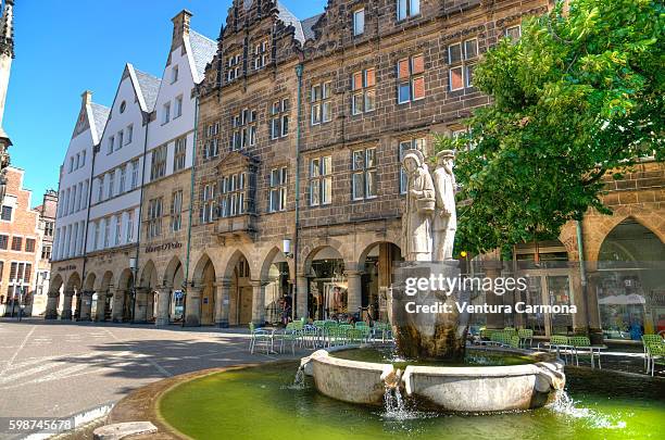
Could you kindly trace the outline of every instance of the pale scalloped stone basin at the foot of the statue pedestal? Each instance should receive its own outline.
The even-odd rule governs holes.
[[[318,392],[332,399],[381,405],[386,384],[397,384],[405,395],[426,406],[450,412],[536,408],[548,403],[554,392],[565,386],[564,364],[554,353],[518,349],[492,349],[492,352],[526,355],[534,363],[454,367],[409,365],[400,377],[391,364],[350,361],[318,350],[304,357],[301,365],[305,374],[314,377]]]

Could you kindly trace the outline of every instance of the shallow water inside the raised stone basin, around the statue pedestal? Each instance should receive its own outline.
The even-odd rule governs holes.
[[[418,366],[447,366],[447,367],[468,367],[468,366],[500,366],[500,365],[524,365],[532,364],[536,361],[527,355],[505,353],[491,348],[473,348],[466,350],[464,363],[421,361],[400,359],[392,347],[363,348],[352,350],[340,350],[330,352],[330,356],[346,359],[349,361],[372,362],[378,364],[392,364],[396,368],[404,369],[407,365]]]

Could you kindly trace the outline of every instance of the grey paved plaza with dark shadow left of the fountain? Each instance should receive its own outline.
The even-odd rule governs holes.
[[[0,319],[0,416],[70,416],[165,377],[291,356],[250,354],[248,338],[243,328]]]

